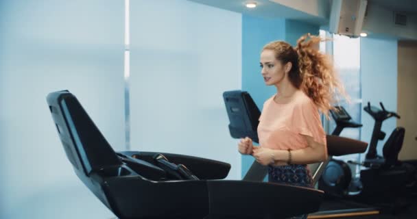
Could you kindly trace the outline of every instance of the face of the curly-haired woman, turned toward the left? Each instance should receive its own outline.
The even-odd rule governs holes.
[[[274,51],[265,49],[261,53],[261,74],[267,86],[278,85],[285,77],[285,65],[275,58]]]

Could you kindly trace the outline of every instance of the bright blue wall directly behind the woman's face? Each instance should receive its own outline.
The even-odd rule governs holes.
[[[259,110],[263,102],[276,92],[274,86],[265,86],[259,68],[259,56],[263,46],[274,40],[285,40],[293,45],[300,36],[318,34],[319,27],[299,21],[285,19],[242,17],[242,90],[248,91]],[[242,177],[246,174],[254,159],[242,156]]]

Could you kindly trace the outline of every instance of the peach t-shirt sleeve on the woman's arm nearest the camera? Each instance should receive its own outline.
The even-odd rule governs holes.
[[[300,103],[294,109],[292,123],[296,132],[312,137],[315,142],[326,144],[326,133],[320,120],[318,107],[312,101]]]

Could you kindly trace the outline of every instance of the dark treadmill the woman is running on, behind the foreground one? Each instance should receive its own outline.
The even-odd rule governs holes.
[[[223,93],[223,99],[230,124],[228,125],[230,136],[232,138],[252,138],[253,142],[259,143],[257,127],[259,125],[259,116],[261,112],[254,103],[248,92],[241,90],[230,90]],[[342,108],[339,111],[332,112],[333,118],[338,118],[339,126],[333,131],[332,135],[326,136],[327,152],[329,159],[321,162],[314,170],[313,183],[317,183],[326,169],[327,164],[333,156],[342,156],[355,153],[364,153],[368,143],[350,138],[339,137],[339,133],[344,127],[360,127],[360,124],[350,121],[350,116]],[[263,181],[267,175],[267,166],[262,166],[254,161],[248,172],[243,177],[246,181]],[[379,214],[379,211],[368,205],[361,203],[352,203],[347,201],[331,200],[326,205],[320,206],[320,211],[309,214],[309,218],[339,218],[344,216],[363,216]]]

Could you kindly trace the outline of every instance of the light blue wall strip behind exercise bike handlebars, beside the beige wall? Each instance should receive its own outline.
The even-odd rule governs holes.
[[[361,38],[361,83],[362,110],[361,140],[370,142],[374,120],[363,107],[370,101],[379,107],[383,102],[386,110],[396,112],[397,106],[397,41],[372,38]],[[387,136],[379,141],[378,153],[382,155],[382,145],[396,127],[396,118],[385,120],[382,131]]]

